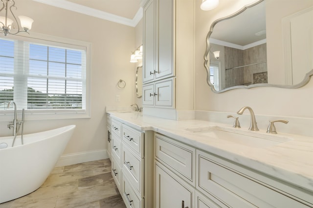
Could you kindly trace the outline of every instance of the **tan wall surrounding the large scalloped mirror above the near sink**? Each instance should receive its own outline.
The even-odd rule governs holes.
[[[284,4],[281,4],[283,6],[275,11],[285,8],[287,1],[280,1]],[[298,0],[290,1],[299,2]],[[278,118],[279,116],[313,118],[313,81],[299,89],[259,87],[235,89],[221,94],[213,93],[207,85],[203,54],[206,48],[205,38],[210,25],[214,20],[228,16],[251,2],[255,1],[224,0],[220,1],[220,5],[216,9],[202,11],[200,9],[201,1],[196,1],[196,109],[236,112],[241,107],[248,105],[254,109],[256,114],[277,115]],[[281,40],[276,41],[280,42]],[[270,55],[268,54],[268,56]]]

